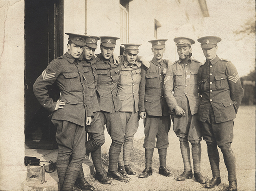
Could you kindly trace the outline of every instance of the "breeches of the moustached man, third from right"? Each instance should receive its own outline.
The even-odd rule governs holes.
[[[144,127],[144,148],[156,147],[161,149],[168,147],[168,132],[171,128],[171,117],[169,115],[161,117],[147,115],[144,119]]]

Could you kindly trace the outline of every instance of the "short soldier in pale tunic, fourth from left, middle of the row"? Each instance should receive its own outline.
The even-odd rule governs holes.
[[[118,160],[118,171],[123,175],[135,175],[130,167],[130,154],[134,134],[139,127],[139,84],[141,82],[141,61],[137,60],[138,44],[124,45],[124,54],[119,56],[121,63],[120,79],[117,93],[122,103],[120,109],[121,122],[124,130],[124,144]]]

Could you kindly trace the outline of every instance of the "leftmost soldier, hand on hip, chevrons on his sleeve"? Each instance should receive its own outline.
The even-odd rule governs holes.
[[[88,36],[69,35],[68,51],[51,61],[33,85],[37,100],[53,112],[52,122],[57,128],[59,152],[56,161],[60,190],[72,191],[74,184],[91,191],[83,175],[85,158],[85,124],[91,123],[93,112],[88,101],[89,91],[79,57]],[[48,85],[57,83],[60,97],[54,102],[48,95]]]

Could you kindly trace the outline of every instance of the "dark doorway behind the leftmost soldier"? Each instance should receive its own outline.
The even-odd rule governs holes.
[[[48,63],[63,54],[63,0],[25,0],[25,148],[57,148],[56,128],[33,93]],[[54,101],[54,85],[48,94]]]

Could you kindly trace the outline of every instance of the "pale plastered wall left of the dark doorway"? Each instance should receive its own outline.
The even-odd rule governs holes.
[[[26,180],[24,0],[0,0],[0,190]]]

